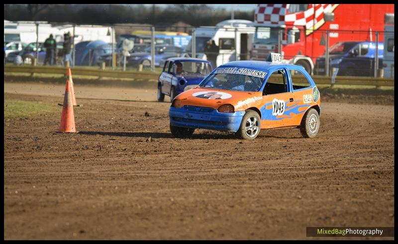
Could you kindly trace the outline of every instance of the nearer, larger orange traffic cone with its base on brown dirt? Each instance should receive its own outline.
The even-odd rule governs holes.
[[[64,105],[62,106],[62,117],[59,131],[63,133],[76,132],[75,115],[73,113],[72,105],[71,84],[68,80],[66,81]]]

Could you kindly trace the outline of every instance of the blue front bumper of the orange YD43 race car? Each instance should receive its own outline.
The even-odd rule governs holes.
[[[169,117],[173,126],[237,132],[245,111],[220,113],[216,109],[184,106],[170,107]]]

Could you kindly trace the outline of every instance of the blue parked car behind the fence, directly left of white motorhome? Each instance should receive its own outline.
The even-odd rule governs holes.
[[[173,45],[155,45],[155,66],[159,66],[159,61],[162,58],[176,57],[178,53],[182,52],[181,47]],[[151,47],[145,49],[145,53],[133,53],[127,57],[126,66],[138,67],[142,64],[145,67],[151,66]]]

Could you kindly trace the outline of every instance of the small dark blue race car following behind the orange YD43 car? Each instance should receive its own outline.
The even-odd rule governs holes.
[[[158,101],[165,94],[173,100],[178,94],[197,86],[212,70],[209,61],[193,58],[169,58],[158,81]]]

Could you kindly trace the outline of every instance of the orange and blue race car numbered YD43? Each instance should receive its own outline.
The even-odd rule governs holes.
[[[294,127],[303,137],[315,137],[321,112],[318,88],[301,66],[272,61],[223,64],[197,87],[176,96],[169,109],[172,135],[190,137],[201,128],[254,139],[260,129]]]

